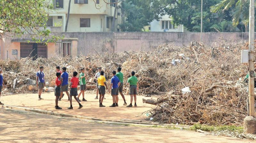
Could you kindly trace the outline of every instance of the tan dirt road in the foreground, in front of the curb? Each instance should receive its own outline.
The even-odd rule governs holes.
[[[76,118],[0,109],[2,143],[254,143],[164,128],[90,123]]]

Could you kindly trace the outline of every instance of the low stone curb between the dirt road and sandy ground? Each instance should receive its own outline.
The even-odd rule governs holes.
[[[34,112],[39,114],[45,114],[45,115],[53,115],[53,116],[59,116],[59,117],[70,117],[70,118],[78,118],[78,119],[85,119],[85,120],[91,120],[91,121],[102,121],[105,122],[114,122],[114,123],[124,123],[124,124],[137,124],[137,125],[159,125],[159,126],[169,126],[169,127],[176,127],[176,128],[184,128],[189,129],[191,126],[189,125],[176,125],[176,124],[158,124],[158,123],[147,123],[147,122],[134,122],[134,121],[126,121],[126,120],[108,120],[108,119],[99,119],[99,118],[93,118],[93,117],[84,117],[79,115],[70,115],[70,114],[62,114],[62,113],[55,113],[53,111],[46,111],[41,109],[35,109],[35,108],[27,108],[27,107],[19,107],[19,106],[9,106],[9,105],[1,105],[3,108],[9,108],[9,109],[15,109],[15,110],[23,110],[28,112]]]

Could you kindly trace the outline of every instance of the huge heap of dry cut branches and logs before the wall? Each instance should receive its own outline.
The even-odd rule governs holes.
[[[28,85],[35,84],[40,66],[44,66],[47,87],[54,86],[57,65],[67,67],[70,78],[73,71],[84,67],[87,81],[92,83],[95,82],[93,77],[97,68],[102,67],[108,84],[111,71],[121,66],[124,82],[131,71],[136,72],[139,94],[163,95],[161,98],[164,99],[150,110],[154,121],[240,125],[247,113],[247,85],[243,81],[247,71],[240,64],[241,49],[246,49],[246,44],[210,47],[193,41],[183,47],[160,45],[150,52],[124,51],[57,59],[38,58],[35,61],[23,58],[0,61],[0,65],[4,68],[8,87],[5,94],[30,92]],[[15,79],[15,88],[12,88]],[[128,94],[129,87],[124,85],[124,93]]]

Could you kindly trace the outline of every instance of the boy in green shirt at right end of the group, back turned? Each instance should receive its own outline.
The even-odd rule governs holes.
[[[136,95],[137,95],[137,90],[139,90],[139,83],[138,83],[138,79],[137,77],[134,76],[135,72],[131,72],[131,77],[127,80],[127,85],[130,84],[130,96],[131,96],[131,103],[130,105],[126,106],[126,107],[132,107],[132,101],[133,101],[133,97],[134,97],[134,106],[137,107],[136,104]]]

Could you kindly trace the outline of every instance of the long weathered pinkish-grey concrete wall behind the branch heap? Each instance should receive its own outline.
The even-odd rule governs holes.
[[[177,46],[191,41],[200,41],[200,33],[184,32],[66,32],[67,38],[78,38],[78,55],[113,53],[129,50],[152,50],[160,44],[170,43]],[[219,45],[224,39],[228,43],[248,40],[248,33],[203,33],[203,42]]]

